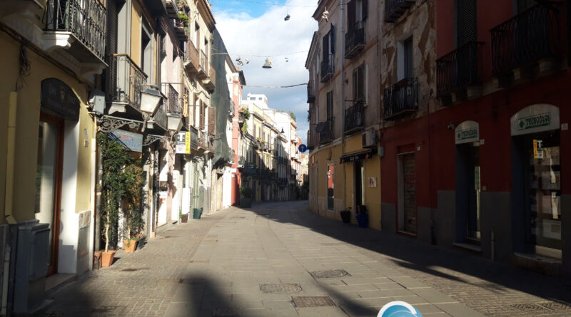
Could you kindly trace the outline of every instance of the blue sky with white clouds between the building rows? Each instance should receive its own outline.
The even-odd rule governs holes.
[[[246,85],[282,86],[307,83],[305,69],[313,32],[317,21],[311,17],[317,0],[210,0],[216,28],[221,33],[234,63],[244,62]],[[289,21],[284,21],[286,15]],[[216,52],[213,52],[216,53]],[[266,57],[272,68],[262,68]],[[246,58],[250,63],[246,64]],[[288,60],[286,60],[288,58]],[[307,145],[309,123],[307,86],[295,88],[244,87],[243,99],[248,93],[268,96],[268,106],[295,113],[298,136]]]

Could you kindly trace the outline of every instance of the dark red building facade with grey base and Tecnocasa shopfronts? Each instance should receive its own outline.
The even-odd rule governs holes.
[[[383,230],[571,274],[566,12],[523,0],[385,11],[382,41],[398,45],[380,52],[395,63],[381,71]]]

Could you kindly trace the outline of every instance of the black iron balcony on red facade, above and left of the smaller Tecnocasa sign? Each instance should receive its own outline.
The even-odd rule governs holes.
[[[482,42],[468,42],[436,60],[438,96],[482,83]]]

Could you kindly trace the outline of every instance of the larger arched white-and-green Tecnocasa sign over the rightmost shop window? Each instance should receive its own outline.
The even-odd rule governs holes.
[[[530,105],[512,115],[510,121],[512,135],[557,130],[560,128],[559,108],[546,103]]]

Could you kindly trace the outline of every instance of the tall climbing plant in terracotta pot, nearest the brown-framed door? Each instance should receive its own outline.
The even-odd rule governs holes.
[[[101,226],[102,236],[105,240],[105,249],[101,251],[101,266],[108,267],[113,264],[115,250],[109,248],[111,234],[116,229],[119,203],[124,197],[125,180],[123,167],[128,162],[128,153],[114,140],[110,140],[106,133],[97,135],[98,145],[101,147],[102,177],[101,177]]]

